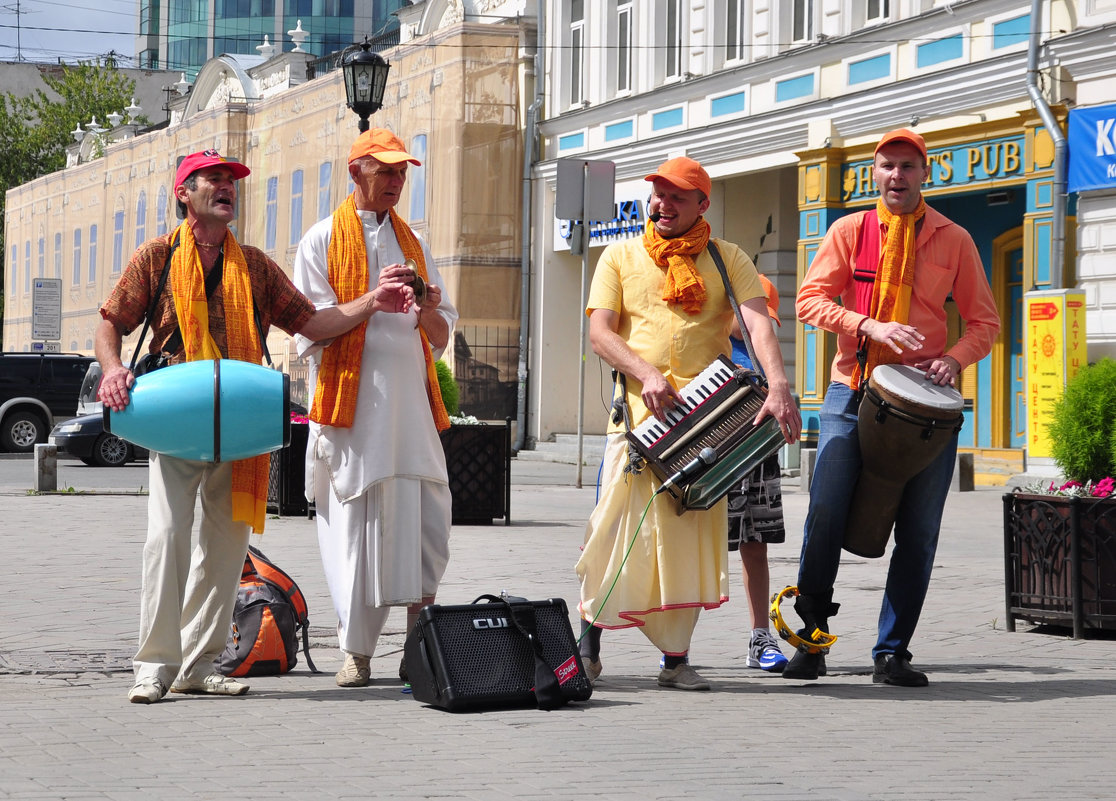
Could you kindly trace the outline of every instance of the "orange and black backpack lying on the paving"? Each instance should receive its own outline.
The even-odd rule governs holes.
[[[311,673],[310,619],[295,580],[249,546],[240,573],[232,630],[214,666],[225,676],[278,676],[298,664],[298,631]]]

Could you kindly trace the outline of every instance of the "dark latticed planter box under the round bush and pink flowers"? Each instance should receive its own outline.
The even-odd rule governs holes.
[[[1003,496],[1007,628],[1116,629],[1116,500]]]

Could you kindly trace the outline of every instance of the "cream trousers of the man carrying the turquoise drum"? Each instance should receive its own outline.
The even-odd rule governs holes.
[[[151,454],[147,541],[140,591],[137,682],[170,686],[213,673],[229,638],[248,538],[232,521],[232,463],[211,464]],[[191,552],[194,505],[202,521]]]

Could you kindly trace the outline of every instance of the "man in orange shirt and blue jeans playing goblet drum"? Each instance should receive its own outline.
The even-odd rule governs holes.
[[[862,464],[858,390],[875,366],[887,363],[912,365],[934,384],[953,385],[962,369],[991,351],[1000,328],[972,237],[922,197],[930,176],[922,136],[906,128],[885,134],[876,145],[873,176],[879,190],[876,205],[834,223],[796,305],[802,322],[837,335],[798,572],[795,609],[806,623],[802,634],[828,631],[829,618],[837,614],[834,582]],[[951,297],[965,326],[947,347],[945,303]],[[911,666],[908,646],[930,585],[956,447],[953,434],[903,491],[872,650],[875,683],[927,684],[926,674]],[[822,653],[800,648],[782,675],[815,679],[825,669]]]

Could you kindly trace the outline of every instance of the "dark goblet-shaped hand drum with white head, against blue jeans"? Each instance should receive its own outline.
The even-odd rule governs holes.
[[[963,408],[961,393],[930,382],[925,370],[910,365],[872,370],[857,422],[862,466],[845,524],[846,551],[884,556],[903,489],[961,431]]]

